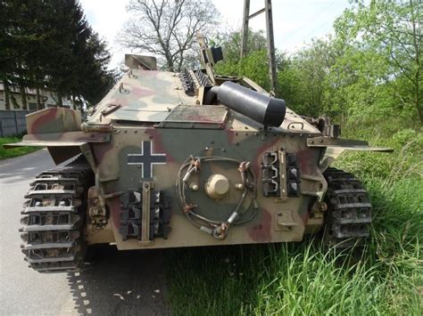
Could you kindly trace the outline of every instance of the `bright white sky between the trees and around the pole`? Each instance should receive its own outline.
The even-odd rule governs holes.
[[[111,66],[123,61],[125,49],[116,44],[116,36],[129,18],[129,0],[79,0],[89,24],[109,43]],[[222,29],[240,29],[244,0],[211,0],[221,14]],[[294,53],[313,37],[333,33],[332,24],[349,6],[348,0],[273,0],[273,33],[280,51]],[[250,14],[264,7],[263,0],[250,1]],[[264,14],[249,22],[253,30],[265,29]]]

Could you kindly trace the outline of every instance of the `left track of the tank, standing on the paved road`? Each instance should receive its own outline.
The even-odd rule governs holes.
[[[84,263],[83,228],[93,173],[83,156],[38,174],[21,212],[21,250],[39,272],[78,271]]]

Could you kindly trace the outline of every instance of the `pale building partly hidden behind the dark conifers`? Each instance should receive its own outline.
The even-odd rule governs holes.
[[[58,105],[57,94],[40,90],[40,100],[43,109],[56,107]],[[25,94],[27,98],[28,109],[23,109],[22,107],[22,97],[19,89],[10,86],[9,87],[9,104],[10,110],[29,110],[30,112],[37,110],[37,93],[35,89],[25,88]],[[68,98],[62,98],[62,105],[64,108],[68,109],[77,109],[75,104]],[[4,94],[4,85],[0,81],[0,110],[6,109],[6,101]]]

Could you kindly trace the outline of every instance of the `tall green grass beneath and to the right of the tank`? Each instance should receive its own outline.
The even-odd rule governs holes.
[[[364,253],[319,241],[175,249],[167,258],[175,315],[420,315],[423,180],[364,179],[373,227]]]

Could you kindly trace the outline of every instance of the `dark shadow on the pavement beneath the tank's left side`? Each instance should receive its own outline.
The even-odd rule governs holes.
[[[69,273],[76,308],[82,314],[167,315],[165,250],[118,251],[101,246],[85,271]]]

